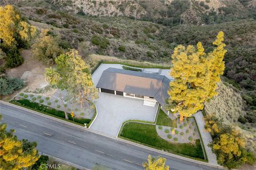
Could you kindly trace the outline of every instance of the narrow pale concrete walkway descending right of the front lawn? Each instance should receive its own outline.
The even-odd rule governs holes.
[[[205,148],[207,158],[209,160],[209,164],[219,166],[217,163],[216,155],[212,152],[212,148],[208,146],[209,143],[212,141],[212,137],[211,137],[211,134],[207,132],[204,128],[205,122],[204,122],[203,113],[200,111],[194,114],[194,116],[198,125],[198,130],[201,133],[201,137],[204,142],[204,148]]]

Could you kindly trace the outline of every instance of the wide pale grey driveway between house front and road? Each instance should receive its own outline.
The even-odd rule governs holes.
[[[98,116],[90,129],[116,136],[120,126],[127,120],[143,120],[153,122],[155,107],[143,106],[143,100],[99,93],[95,106]]]

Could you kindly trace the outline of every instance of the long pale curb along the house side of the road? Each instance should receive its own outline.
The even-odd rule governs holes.
[[[163,154],[163,155],[167,155],[167,156],[179,158],[179,159],[182,159],[182,160],[187,160],[187,161],[193,162],[193,163],[196,162],[197,164],[201,164],[201,165],[206,165],[206,166],[211,166],[211,167],[221,168],[221,169],[224,168],[224,167],[222,167],[222,166],[215,166],[215,165],[212,165],[212,164],[209,164],[209,163],[200,162],[200,161],[195,160],[195,159],[190,159],[190,158],[182,157],[182,156],[179,156],[179,155],[171,154],[171,153],[168,153],[168,152],[165,152],[165,151],[162,151],[162,150],[158,150],[158,149],[150,148],[150,147],[147,147],[147,146],[143,146],[143,145],[141,145],[141,144],[139,144],[139,143],[134,143],[134,142],[127,141],[127,140],[124,140],[124,139],[116,138],[116,137],[113,137],[113,136],[110,136],[110,135],[101,133],[101,132],[99,132],[99,131],[87,129],[87,128],[85,128],[85,127],[83,128],[82,126],[79,126],[79,125],[76,125],[76,124],[73,124],[73,123],[69,123],[69,122],[60,120],[60,119],[58,119],[58,118],[49,116],[49,115],[44,115],[44,114],[41,114],[41,113],[38,113],[38,112],[35,112],[35,111],[31,111],[30,109],[23,108],[23,107],[21,107],[21,106],[17,106],[17,105],[11,104],[11,103],[7,103],[7,102],[2,101],[2,100],[0,100],[0,103],[3,103],[3,104],[5,104],[5,105],[9,105],[9,106],[12,106],[12,107],[16,107],[16,108],[22,109],[23,111],[27,111],[27,112],[30,112],[30,113],[34,113],[34,114],[37,114],[37,115],[39,115],[39,116],[43,116],[43,117],[46,117],[46,118],[50,118],[51,120],[58,121],[58,122],[64,123],[64,124],[68,124],[68,125],[71,125],[71,126],[73,126],[73,127],[79,128],[79,129],[87,130],[87,131],[92,132],[92,133],[95,133],[95,134],[103,135],[103,136],[105,136],[105,137],[108,137],[108,138],[111,138],[111,139],[114,139],[114,140],[122,141],[122,142],[124,142],[124,143],[129,143],[130,145],[133,145],[133,146],[137,146],[137,147],[140,147],[140,148],[143,148],[143,149],[147,149],[147,150],[151,150],[151,151],[154,151],[154,152],[158,152],[159,154]]]

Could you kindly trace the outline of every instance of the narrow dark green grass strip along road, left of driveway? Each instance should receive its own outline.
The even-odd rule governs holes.
[[[27,100],[27,99],[17,99],[10,101],[13,104],[18,104],[20,106],[25,106],[26,108],[32,109],[37,112],[41,112],[50,116],[54,116],[57,118],[61,118],[62,120],[66,120],[65,113],[63,111],[59,111],[57,109],[54,109],[52,107],[48,107],[45,105],[41,105],[38,103],[35,103],[33,101]],[[75,118],[74,121],[70,114],[68,114],[69,122],[73,122],[75,124],[84,125],[84,123],[90,123],[90,119],[88,118]]]

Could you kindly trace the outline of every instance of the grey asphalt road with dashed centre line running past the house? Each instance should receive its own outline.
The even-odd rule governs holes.
[[[7,123],[8,129],[15,129],[19,139],[36,141],[37,149],[44,154],[85,168],[93,169],[95,164],[100,164],[109,169],[143,169],[141,164],[150,154],[165,157],[170,169],[217,169],[111,139],[2,102],[0,112],[1,122]]]

